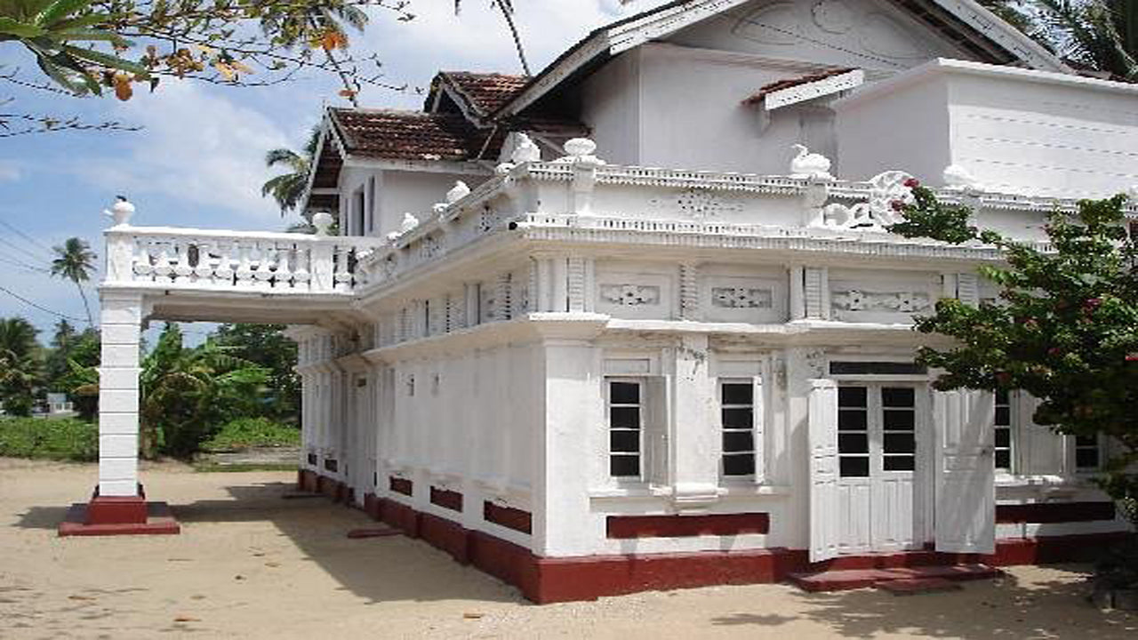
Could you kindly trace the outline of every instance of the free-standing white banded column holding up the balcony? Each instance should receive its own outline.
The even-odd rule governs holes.
[[[142,296],[102,292],[99,298],[99,495],[138,495]]]

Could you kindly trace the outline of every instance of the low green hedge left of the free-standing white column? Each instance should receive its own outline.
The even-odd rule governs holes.
[[[0,418],[0,456],[96,460],[99,427],[74,418]]]

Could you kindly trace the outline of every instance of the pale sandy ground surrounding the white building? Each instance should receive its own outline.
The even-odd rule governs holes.
[[[537,607],[323,499],[289,473],[143,470],[178,536],[56,538],[92,466],[0,459],[0,638],[1138,638],[1086,604],[1085,567],[1013,568],[963,591],[808,594],[781,584]]]

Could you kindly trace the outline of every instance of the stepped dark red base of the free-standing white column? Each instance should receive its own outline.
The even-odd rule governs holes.
[[[59,535],[168,535],[181,533],[165,502],[147,502],[142,485],[138,495],[99,495],[67,509]]]

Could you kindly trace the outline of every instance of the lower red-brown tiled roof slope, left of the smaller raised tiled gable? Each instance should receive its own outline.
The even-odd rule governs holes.
[[[329,109],[349,155],[407,161],[497,158],[502,136],[479,130],[460,114],[391,109]],[[484,147],[487,147],[484,149]]]

